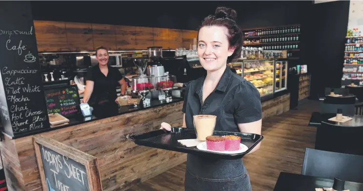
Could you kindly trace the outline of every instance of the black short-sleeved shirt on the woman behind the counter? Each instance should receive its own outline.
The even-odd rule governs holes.
[[[92,66],[88,69],[85,80],[94,82],[93,91],[89,98],[89,105],[95,105],[102,101],[114,102],[117,98],[116,87],[120,86],[120,81],[123,76],[121,72],[115,68],[107,65],[108,73],[105,76],[99,65]]]

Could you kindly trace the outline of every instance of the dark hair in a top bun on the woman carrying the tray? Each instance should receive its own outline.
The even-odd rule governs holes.
[[[224,26],[228,29],[228,41],[230,46],[235,46],[235,52],[227,58],[227,64],[235,61],[241,57],[242,51],[242,31],[236,23],[237,12],[234,9],[226,7],[218,7],[215,9],[214,15],[209,15],[204,18],[202,24],[198,29],[203,26]]]

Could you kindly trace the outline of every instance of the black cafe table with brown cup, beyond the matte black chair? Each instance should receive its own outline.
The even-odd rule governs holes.
[[[331,125],[345,126],[345,127],[362,127],[363,126],[363,115],[348,116],[353,119],[349,120],[347,122],[344,122],[344,123],[328,120],[336,115],[337,115],[336,113],[313,112],[311,114],[309,126],[318,127],[318,126],[321,126],[321,122],[325,122],[325,123],[328,123]]]

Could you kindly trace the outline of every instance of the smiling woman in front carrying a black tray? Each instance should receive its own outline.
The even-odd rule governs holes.
[[[186,86],[183,127],[193,128],[193,115],[209,114],[217,116],[214,130],[261,134],[261,101],[256,87],[227,67],[240,57],[242,49],[242,32],[235,18],[235,10],[218,7],[199,28],[197,53],[207,75]],[[167,123],[161,127],[171,129]],[[251,183],[242,159],[188,154],[185,191],[251,191]]]

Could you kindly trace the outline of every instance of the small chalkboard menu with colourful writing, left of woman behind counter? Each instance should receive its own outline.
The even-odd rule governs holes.
[[[48,114],[59,113],[71,116],[80,112],[80,98],[77,85],[44,91]]]

